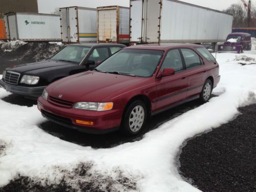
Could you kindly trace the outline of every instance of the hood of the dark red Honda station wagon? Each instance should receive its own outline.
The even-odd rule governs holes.
[[[104,102],[118,96],[114,94],[115,92],[129,91],[136,88],[138,84],[143,84],[146,79],[88,71],[57,80],[47,87],[47,91],[49,96],[58,98],[62,95],[62,100],[72,102]]]

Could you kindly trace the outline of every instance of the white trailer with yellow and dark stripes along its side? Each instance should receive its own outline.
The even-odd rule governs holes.
[[[62,41],[97,42],[97,10],[86,7],[60,8]]]

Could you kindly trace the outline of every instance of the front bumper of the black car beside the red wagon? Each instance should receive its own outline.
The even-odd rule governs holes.
[[[11,93],[23,95],[31,99],[37,99],[42,94],[42,91],[44,91],[46,86],[42,86],[42,87],[15,86],[13,84],[8,84],[1,79],[0,87],[4,88],[6,91],[9,91]]]

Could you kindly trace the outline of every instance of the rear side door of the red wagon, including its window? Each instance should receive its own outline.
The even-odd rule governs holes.
[[[207,70],[203,59],[192,49],[181,49],[186,67],[187,94],[186,98],[197,96],[201,93]]]

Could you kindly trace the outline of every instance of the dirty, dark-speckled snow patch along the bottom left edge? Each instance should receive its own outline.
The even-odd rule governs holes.
[[[137,181],[140,177],[124,174],[120,168],[114,169],[111,175],[101,174],[93,166],[91,162],[83,162],[71,171],[55,166],[53,181],[17,175],[0,191],[139,191]]]

